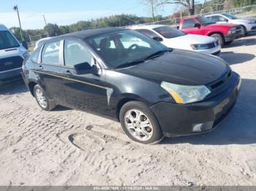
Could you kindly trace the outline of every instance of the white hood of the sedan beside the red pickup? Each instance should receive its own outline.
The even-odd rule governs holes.
[[[197,35],[197,34],[187,34],[184,36],[178,36],[173,39],[166,39],[170,42],[179,42],[179,43],[185,43],[185,44],[208,44],[211,42],[216,42],[216,40],[210,36],[203,36],[203,35]]]

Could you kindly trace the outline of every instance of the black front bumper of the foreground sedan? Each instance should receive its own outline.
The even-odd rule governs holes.
[[[159,102],[151,106],[165,136],[185,136],[212,130],[236,103],[241,79],[236,75],[225,92],[195,104]],[[195,127],[202,129],[195,130]]]

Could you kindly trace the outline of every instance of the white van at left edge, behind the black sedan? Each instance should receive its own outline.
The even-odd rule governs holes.
[[[0,85],[20,77],[22,63],[29,52],[9,29],[0,24]]]

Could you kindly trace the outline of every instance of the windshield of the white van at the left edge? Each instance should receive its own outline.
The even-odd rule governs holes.
[[[10,31],[0,31],[0,50],[19,46],[20,44],[12,36]]]

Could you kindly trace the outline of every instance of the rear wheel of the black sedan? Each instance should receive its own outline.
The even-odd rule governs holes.
[[[45,91],[39,85],[34,86],[34,98],[36,98],[37,104],[45,111],[53,110],[56,104],[50,101]]]

